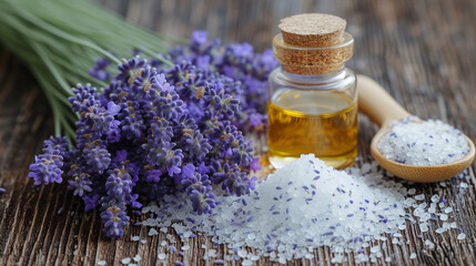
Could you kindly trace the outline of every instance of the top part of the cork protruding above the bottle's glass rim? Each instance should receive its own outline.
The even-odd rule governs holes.
[[[345,25],[345,20],[336,16],[303,13],[282,19],[278,28],[286,44],[316,48],[340,43]]]

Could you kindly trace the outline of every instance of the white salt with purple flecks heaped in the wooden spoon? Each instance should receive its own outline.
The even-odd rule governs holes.
[[[382,154],[398,163],[437,165],[457,161],[469,152],[457,129],[439,120],[419,121],[411,116],[394,122],[378,143]]]

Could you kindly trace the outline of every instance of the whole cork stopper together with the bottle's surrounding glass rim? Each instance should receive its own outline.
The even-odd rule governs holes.
[[[274,57],[295,74],[325,74],[344,68],[354,53],[354,38],[344,32],[345,20],[322,13],[296,14],[281,20],[273,39]]]

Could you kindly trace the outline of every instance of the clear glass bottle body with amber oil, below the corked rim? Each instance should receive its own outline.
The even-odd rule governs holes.
[[[330,166],[351,166],[357,155],[357,92],[352,70],[269,78],[269,157],[280,168],[313,153]]]

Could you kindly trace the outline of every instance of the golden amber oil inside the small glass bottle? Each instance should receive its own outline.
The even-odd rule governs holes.
[[[351,166],[357,155],[357,104],[342,91],[282,90],[269,102],[269,156],[280,168],[314,153],[327,165]]]

